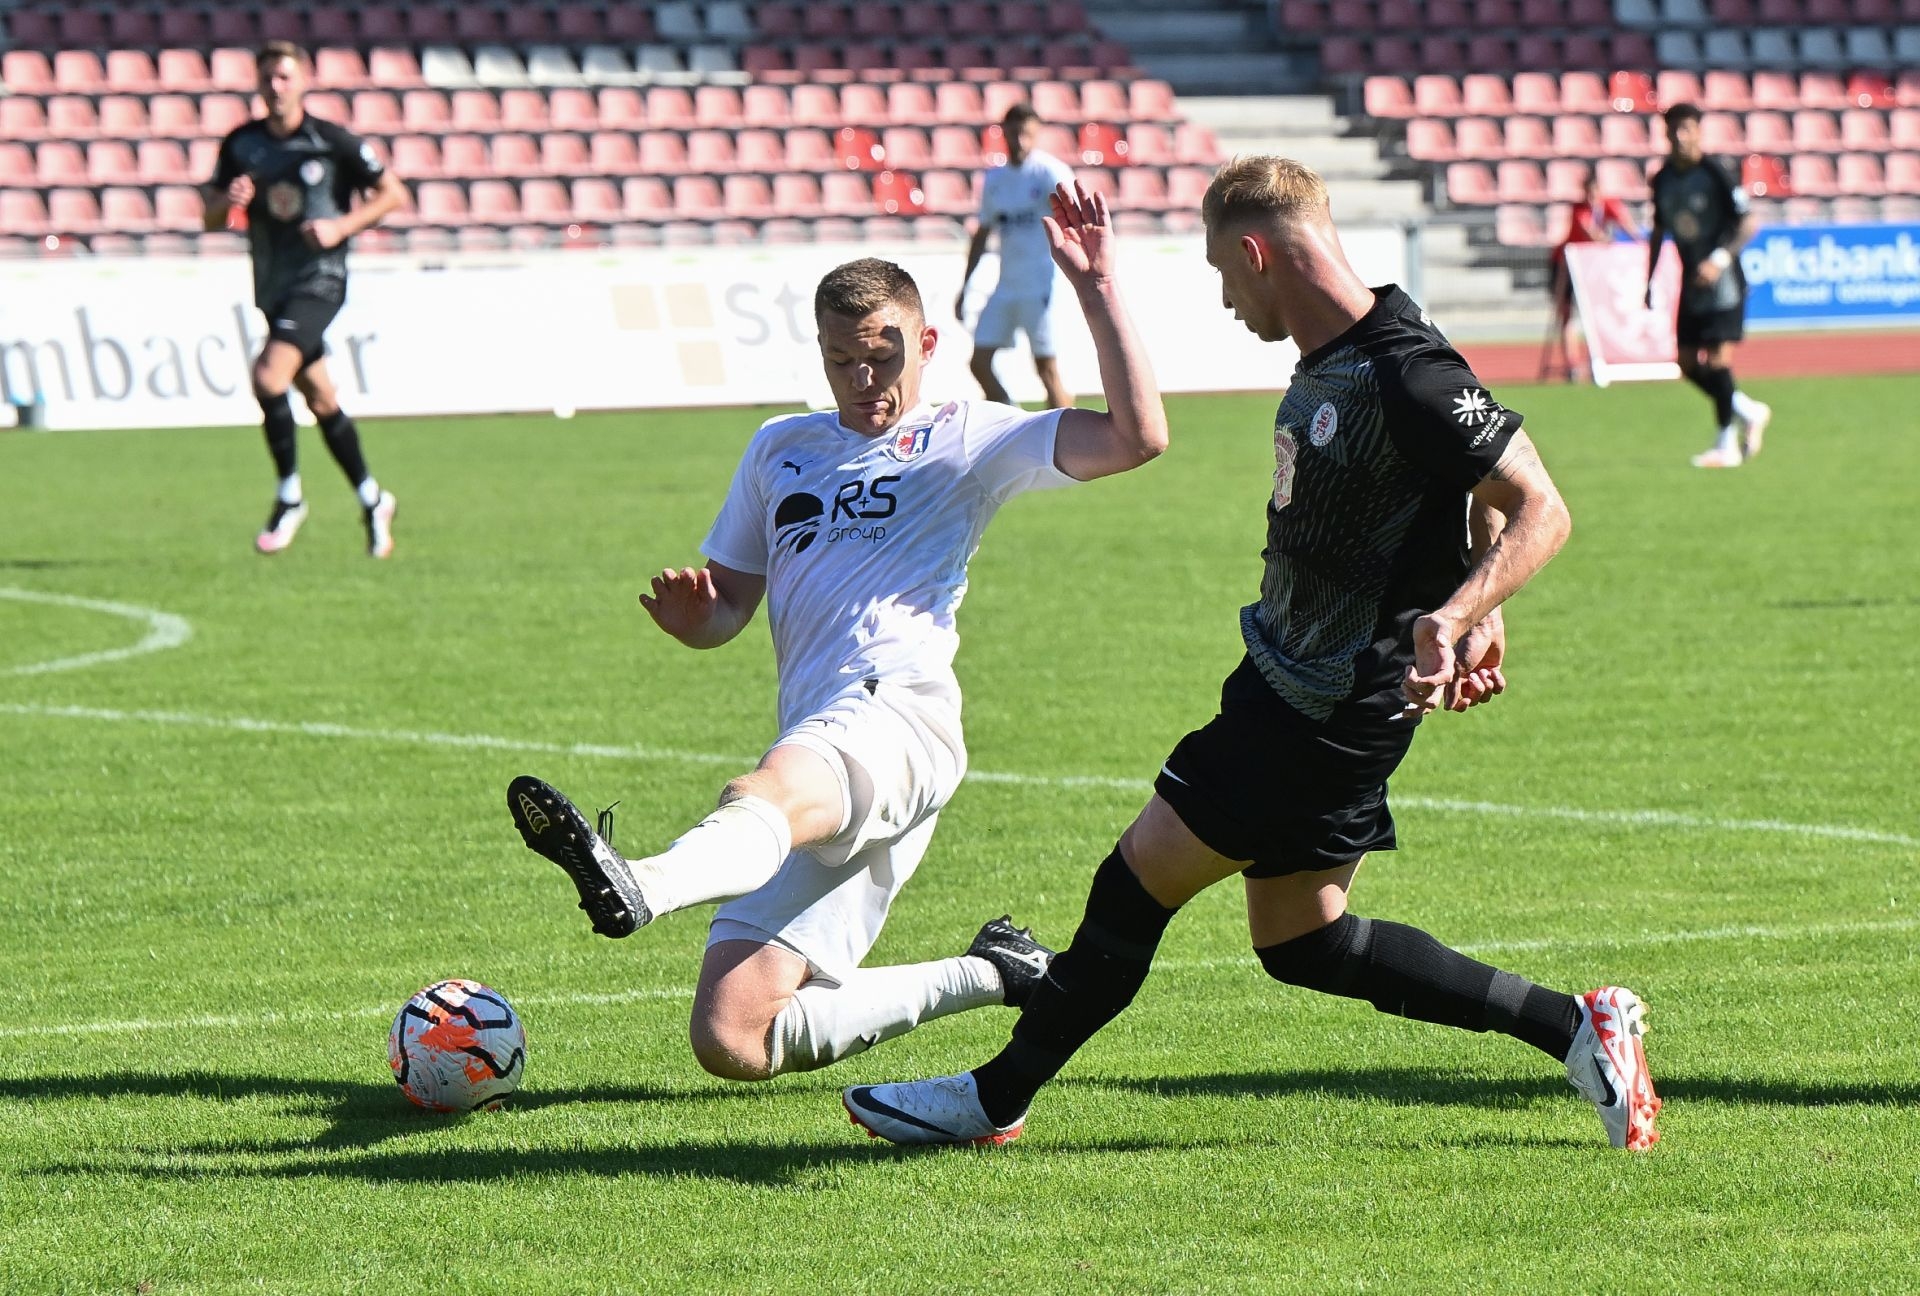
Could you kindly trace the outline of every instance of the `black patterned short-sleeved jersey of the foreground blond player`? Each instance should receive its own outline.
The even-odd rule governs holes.
[[[1519,428],[1396,286],[1300,357],[1273,422],[1260,601],[1240,612],[1248,657],[1290,707],[1400,710],[1413,622],[1469,570],[1469,490]]]

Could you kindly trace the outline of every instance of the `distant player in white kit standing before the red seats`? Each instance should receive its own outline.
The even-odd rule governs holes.
[[[1066,409],[1073,394],[1060,380],[1054,359],[1054,259],[1046,244],[1046,207],[1060,184],[1073,182],[1073,167],[1035,144],[1041,138],[1041,115],[1025,104],[1014,104],[1000,121],[1006,134],[1006,165],[995,167],[981,180],[979,227],[966,250],[966,273],[960,275],[960,298],[954,319],[966,319],[966,286],[987,252],[987,238],[1000,232],[1000,282],[979,311],[973,326],[973,376],[989,401],[1012,405],[1006,386],[993,372],[993,357],[1014,346],[1014,334],[1025,332],[1033,348],[1033,371],[1046,388],[1046,407]]]

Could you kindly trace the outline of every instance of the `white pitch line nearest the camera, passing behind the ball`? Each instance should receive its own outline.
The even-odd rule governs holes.
[[[1811,941],[1845,935],[1912,931],[1920,927],[1920,918],[1895,918],[1887,922],[1836,922],[1805,925],[1726,925],[1701,927],[1697,931],[1642,931],[1617,937],[1576,937],[1546,941],[1480,941],[1461,945],[1467,954],[1511,954],[1524,950],[1563,950],[1563,948],[1642,948],[1657,945],[1695,945],[1705,941]],[[1252,956],[1242,958],[1164,958],[1154,964],[1160,972],[1215,972],[1233,968],[1254,968]],[[599,1004],[637,1004],[647,1000],[691,1000],[691,985],[599,991],[580,995],[515,995],[520,1008],[576,1008]],[[46,1025],[0,1025],[0,1039],[54,1039],[71,1035],[171,1035],[180,1031],[236,1031],[275,1025],[321,1025],[326,1021],[374,1021],[394,1014],[392,1004],[376,1004],[348,1010],[313,1012],[250,1012],[225,1016],[188,1018],[138,1018],[123,1021],[60,1021]]]

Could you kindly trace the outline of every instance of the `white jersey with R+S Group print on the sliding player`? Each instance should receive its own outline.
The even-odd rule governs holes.
[[[1014,495],[1073,482],[1054,467],[1060,411],[920,405],[885,436],[835,411],[760,424],[701,551],[766,576],[780,728],[864,680],[950,691],[966,564]]]

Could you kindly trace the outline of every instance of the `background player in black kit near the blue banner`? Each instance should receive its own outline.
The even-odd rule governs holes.
[[[1647,234],[1647,305],[1661,240],[1680,252],[1680,372],[1713,401],[1715,444],[1695,468],[1738,468],[1761,453],[1774,411],[1734,384],[1734,344],[1747,326],[1747,276],[1740,250],[1753,240],[1747,190],[1699,144],[1699,109],[1667,109],[1667,161],[1653,173],[1653,230]]]

